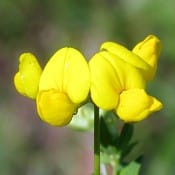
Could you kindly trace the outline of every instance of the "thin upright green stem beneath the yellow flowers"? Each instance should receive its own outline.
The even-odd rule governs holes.
[[[94,175],[100,175],[100,117],[94,104]]]

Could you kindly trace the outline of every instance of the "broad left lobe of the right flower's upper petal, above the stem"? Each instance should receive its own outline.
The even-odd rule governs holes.
[[[91,72],[91,98],[100,108],[110,110],[117,106],[122,86],[112,64],[103,52],[94,55],[89,62]]]

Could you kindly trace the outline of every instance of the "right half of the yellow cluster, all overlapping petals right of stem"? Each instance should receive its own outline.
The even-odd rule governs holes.
[[[153,35],[133,51],[105,42],[89,62],[91,98],[100,108],[115,110],[125,122],[137,122],[162,108],[162,103],[145,91],[153,78],[160,53],[160,41]]]

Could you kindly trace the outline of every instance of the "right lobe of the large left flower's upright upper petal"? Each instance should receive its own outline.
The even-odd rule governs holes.
[[[79,51],[69,49],[65,69],[64,90],[74,103],[81,103],[90,89],[88,63]]]

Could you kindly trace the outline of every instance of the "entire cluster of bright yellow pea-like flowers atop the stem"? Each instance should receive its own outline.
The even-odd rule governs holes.
[[[40,118],[51,125],[68,124],[89,94],[99,108],[115,110],[125,122],[137,122],[162,108],[145,91],[146,82],[155,75],[160,50],[160,40],[153,35],[132,51],[105,42],[88,63],[78,50],[65,47],[43,71],[34,55],[24,53],[14,84],[20,94],[36,99]]]

